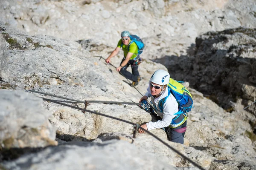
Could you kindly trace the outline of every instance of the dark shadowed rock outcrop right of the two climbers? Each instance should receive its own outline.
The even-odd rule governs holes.
[[[189,81],[228,111],[233,111],[238,98],[245,106],[256,100],[256,29],[208,32],[195,42],[194,56],[180,57],[169,66],[173,77]],[[254,115],[255,108],[249,107]]]

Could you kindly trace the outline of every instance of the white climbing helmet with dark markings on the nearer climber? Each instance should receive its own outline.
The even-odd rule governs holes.
[[[151,76],[150,81],[159,84],[159,85],[166,85],[169,83],[170,74],[163,69],[158,69],[154,72]]]

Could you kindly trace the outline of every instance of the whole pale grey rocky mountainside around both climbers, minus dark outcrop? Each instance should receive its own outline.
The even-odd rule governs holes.
[[[254,6],[250,0],[1,1],[0,169],[198,169],[151,135],[133,138],[132,124],[38,98],[76,108],[94,100],[138,102],[154,71],[167,70],[149,60],[160,58],[172,77],[189,81],[194,109],[184,145],[168,141],[162,129],[150,132],[206,170],[255,170],[256,118],[242,105],[255,98],[255,29],[237,28],[256,26]],[[113,65],[104,61],[125,29],[146,44],[136,89],[116,72],[122,54]],[[232,103],[233,112],[214,97]],[[133,104],[86,108],[134,124],[156,121]],[[20,154],[10,156],[14,150]]]

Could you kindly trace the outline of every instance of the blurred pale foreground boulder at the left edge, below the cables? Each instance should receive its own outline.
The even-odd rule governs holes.
[[[2,149],[57,145],[51,115],[42,99],[28,92],[0,90],[0,145]]]

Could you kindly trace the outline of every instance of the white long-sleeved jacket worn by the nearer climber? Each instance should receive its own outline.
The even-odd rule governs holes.
[[[148,122],[146,124],[148,130],[168,127],[171,124],[172,119],[175,117],[174,114],[178,112],[178,103],[172,94],[170,94],[169,97],[166,99],[166,102],[163,105],[163,112],[160,112],[158,104],[162,98],[165,98],[168,95],[167,88],[168,87],[166,87],[166,89],[163,91],[163,93],[158,98],[154,98],[151,95],[150,86],[148,86],[145,96],[147,96],[147,97],[151,96],[151,101],[154,104],[154,106],[157,108],[157,115],[159,115],[162,118],[162,120],[159,120],[157,122],[152,122],[152,121]]]

